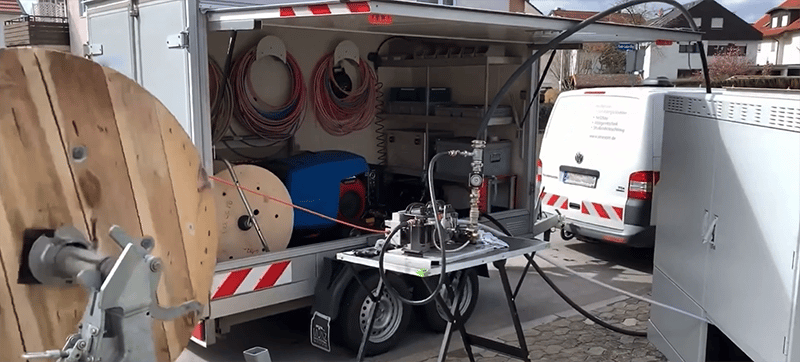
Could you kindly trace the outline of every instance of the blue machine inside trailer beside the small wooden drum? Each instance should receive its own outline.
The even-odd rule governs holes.
[[[369,171],[367,161],[344,151],[306,152],[267,165],[280,178],[295,205],[336,218],[342,180]],[[324,230],[335,223],[305,211],[294,211],[295,230]]]

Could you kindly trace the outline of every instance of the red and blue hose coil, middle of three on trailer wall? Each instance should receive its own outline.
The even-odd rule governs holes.
[[[236,95],[236,114],[243,126],[253,134],[272,141],[291,138],[305,116],[307,98],[303,73],[297,60],[286,52],[286,66],[292,78],[292,92],[286,103],[274,106],[261,99],[251,80],[256,61],[256,47],[248,50],[233,65],[231,78]]]

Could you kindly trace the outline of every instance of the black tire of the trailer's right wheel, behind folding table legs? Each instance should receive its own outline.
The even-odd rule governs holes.
[[[459,312],[464,316],[464,321],[466,322],[469,320],[469,317],[472,316],[475,305],[478,304],[480,288],[478,287],[478,273],[475,270],[467,270],[464,275],[467,277],[463,291],[466,295],[461,299]],[[414,293],[416,294],[414,299],[421,299],[430,292],[428,292],[428,288],[424,285],[419,285],[417,288],[414,288]],[[423,324],[434,332],[442,333],[447,328],[447,320],[445,319],[444,311],[436,302],[431,302],[419,307],[419,316],[422,318]]]

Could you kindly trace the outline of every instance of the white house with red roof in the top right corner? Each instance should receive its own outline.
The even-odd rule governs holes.
[[[753,26],[764,37],[758,64],[774,64],[778,75],[800,76],[800,0],[784,1]]]

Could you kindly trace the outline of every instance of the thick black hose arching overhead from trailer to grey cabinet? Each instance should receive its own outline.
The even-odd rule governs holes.
[[[524,74],[526,71],[528,71],[531,68],[531,66],[533,65],[533,63],[535,61],[539,60],[539,58],[541,58],[542,55],[544,55],[544,53],[546,53],[546,52],[548,52],[550,50],[554,50],[559,44],[561,44],[561,42],[563,42],[565,39],[570,37],[572,34],[577,33],[578,31],[582,30],[583,28],[585,28],[585,27],[597,22],[598,20],[600,20],[600,19],[602,19],[602,18],[604,18],[604,17],[606,17],[608,15],[611,15],[611,14],[613,14],[613,13],[619,11],[619,10],[622,10],[622,9],[625,9],[625,8],[628,8],[628,7],[631,7],[631,6],[634,6],[634,5],[650,3],[650,2],[661,2],[661,3],[666,3],[666,4],[669,4],[669,5],[672,5],[673,7],[678,9],[683,14],[683,16],[688,21],[689,26],[692,28],[692,31],[694,31],[694,32],[698,31],[697,24],[694,23],[694,20],[692,19],[692,15],[689,13],[688,10],[686,10],[685,7],[683,7],[683,5],[681,5],[679,2],[677,2],[675,0],[632,0],[632,1],[625,2],[623,4],[619,4],[619,5],[613,6],[613,7],[609,8],[608,10],[605,10],[603,12],[597,13],[596,15],[594,15],[594,16],[592,16],[592,17],[590,17],[590,18],[588,18],[588,19],[586,19],[586,20],[574,25],[573,27],[561,32],[558,36],[556,36],[555,38],[550,40],[550,42],[548,42],[545,46],[543,46],[542,48],[539,48],[539,50],[537,50],[536,53],[533,53],[533,55],[531,55],[528,58],[528,60],[525,61],[525,63],[522,63],[522,65],[520,65],[519,68],[517,68],[517,70],[514,71],[514,74],[512,74],[511,77],[508,78],[506,83],[503,84],[503,87],[500,88],[500,91],[497,92],[497,94],[495,95],[494,99],[492,100],[492,104],[489,106],[489,109],[486,111],[486,113],[484,113],[483,120],[481,121],[481,125],[478,128],[478,135],[476,136],[476,139],[480,140],[480,139],[484,138],[484,135],[486,133],[486,129],[487,129],[487,127],[489,127],[489,120],[491,119],[492,114],[494,114],[494,112],[497,110],[497,107],[500,106],[500,102],[503,100],[503,97],[505,97],[506,93],[508,93],[508,91],[511,89],[511,86],[514,84],[514,82],[516,82],[517,79],[519,79],[519,77],[522,76],[522,74]],[[700,59],[703,61],[703,73],[705,74],[706,92],[711,93],[711,79],[710,79],[709,74],[708,74],[708,62],[706,61],[705,50],[703,49],[703,42],[698,40],[697,41],[697,45],[700,48]]]

